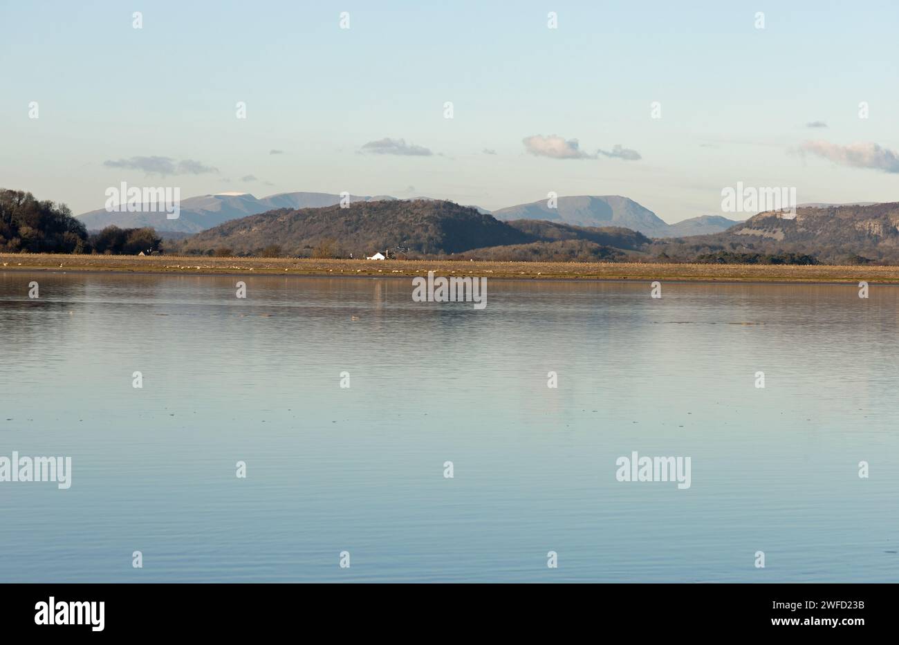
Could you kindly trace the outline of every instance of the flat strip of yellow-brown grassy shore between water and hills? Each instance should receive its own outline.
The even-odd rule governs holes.
[[[684,280],[699,282],[859,282],[899,284],[899,267],[612,262],[313,260],[0,253],[0,271],[405,277],[426,274],[519,279]]]

